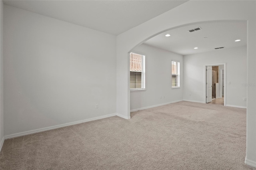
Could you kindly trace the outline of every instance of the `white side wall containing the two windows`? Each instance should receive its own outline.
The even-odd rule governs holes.
[[[130,109],[138,110],[183,99],[183,57],[156,47],[142,44],[134,52],[146,55],[146,91],[130,93]],[[180,61],[180,88],[172,89],[172,59]]]

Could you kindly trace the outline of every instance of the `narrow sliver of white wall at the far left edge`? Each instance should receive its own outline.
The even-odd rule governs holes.
[[[4,144],[4,52],[3,52],[3,1],[0,0],[0,151]]]

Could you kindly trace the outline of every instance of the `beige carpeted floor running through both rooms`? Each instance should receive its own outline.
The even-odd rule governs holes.
[[[246,109],[178,102],[4,141],[1,170],[255,170]]]

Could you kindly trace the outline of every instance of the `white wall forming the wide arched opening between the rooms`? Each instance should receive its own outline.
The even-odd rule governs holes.
[[[218,12],[216,12],[218,11]],[[182,15],[181,15],[182,14]],[[247,21],[247,83],[256,83],[256,1],[188,1],[117,36],[117,113],[130,117],[128,53],[152,36],[188,24]],[[247,87],[246,164],[256,167],[256,88]]]

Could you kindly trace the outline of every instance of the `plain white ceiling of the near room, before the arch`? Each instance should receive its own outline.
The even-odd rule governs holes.
[[[188,0],[4,0],[4,4],[118,35]]]

